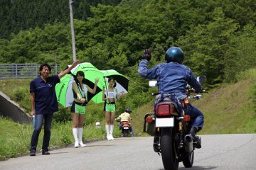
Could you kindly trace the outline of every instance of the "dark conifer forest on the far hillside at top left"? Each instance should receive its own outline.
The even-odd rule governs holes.
[[[92,16],[90,6],[97,4],[117,5],[119,0],[73,1],[73,16],[86,20]],[[30,28],[43,28],[55,22],[70,23],[69,1],[15,0],[0,2],[0,38],[9,38],[11,33]]]

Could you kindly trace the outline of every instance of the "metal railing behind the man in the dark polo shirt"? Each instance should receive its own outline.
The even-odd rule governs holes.
[[[49,63],[50,64],[50,63]],[[0,79],[35,79],[41,64],[0,64]],[[58,74],[59,64],[50,64],[51,74]]]

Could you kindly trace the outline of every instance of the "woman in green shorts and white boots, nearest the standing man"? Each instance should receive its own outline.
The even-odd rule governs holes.
[[[85,74],[78,71],[75,76],[75,82],[72,84],[74,101],[71,106],[71,116],[73,120],[73,136],[75,138],[75,147],[85,147],[82,143],[82,130],[85,120],[85,106],[87,104],[87,92],[95,94],[99,79],[95,79],[95,86],[90,89],[85,84]]]

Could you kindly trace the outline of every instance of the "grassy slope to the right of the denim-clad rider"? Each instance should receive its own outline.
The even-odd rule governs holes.
[[[256,132],[256,69],[238,75],[235,84],[223,84],[193,104],[205,115],[201,134]]]

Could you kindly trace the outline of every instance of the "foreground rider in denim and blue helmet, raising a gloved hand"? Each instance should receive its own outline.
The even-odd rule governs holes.
[[[142,62],[139,64],[139,75],[146,79],[156,79],[159,85],[159,96],[161,98],[164,95],[174,95],[181,101],[186,100],[186,85],[189,84],[197,92],[203,91],[201,84],[196,81],[191,69],[182,64],[184,54],[179,47],[170,47],[165,54],[165,63],[158,64],[155,67],[148,69],[148,62],[151,60],[151,50],[146,49],[143,53]],[[186,115],[190,115],[193,119],[193,125],[190,131],[194,141],[198,140],[196,133],[203,128],[203,113],[199,111],[195,106],[186,102],[183,106],[183,111]],[[201,145],[197,146],[201,148]]]

